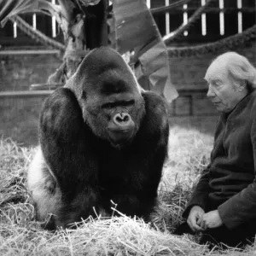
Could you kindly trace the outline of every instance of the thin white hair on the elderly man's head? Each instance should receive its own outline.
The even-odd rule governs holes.
[[[246,57],[234,51],[219,55],[212,62],[219,61],[227,68],[236,83],[247,82],[249,90],[256,90],[256,69]]]

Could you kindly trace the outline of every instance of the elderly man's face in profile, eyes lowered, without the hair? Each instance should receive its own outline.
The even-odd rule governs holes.
[[[241,101],[241,87],[234,84],[234,80],[221,62],[212,63],[207,69],[205,79],[208,83],[207,97],[218,112],[228,113]]]

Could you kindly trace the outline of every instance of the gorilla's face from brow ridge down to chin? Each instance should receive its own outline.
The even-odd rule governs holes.
[[[143,96],[134,91],[102,91],[100,95],[87,96],[82,108],[84,120],[96,136],[115,148],[131,144],[145,114]]]

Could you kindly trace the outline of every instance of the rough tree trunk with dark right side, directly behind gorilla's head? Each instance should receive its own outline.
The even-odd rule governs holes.
[[[87,7],[77,1],[59,0],[59,3],[67,47],[61,67],[49,77],[47,84],[65,84],[90,49],[108,45],[108,0]]]

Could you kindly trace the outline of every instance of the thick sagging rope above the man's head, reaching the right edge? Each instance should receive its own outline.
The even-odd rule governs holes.
[[[237,49],[239,45],[246,44],[256,38],[256,25],[248,28],[242,33],[221,39],[214,43],[201,44],[186,47],[169,47],[168,55],[170,57],[184,57],[195,55],[206,55],[208,53],[216,52],[221,48]]]

